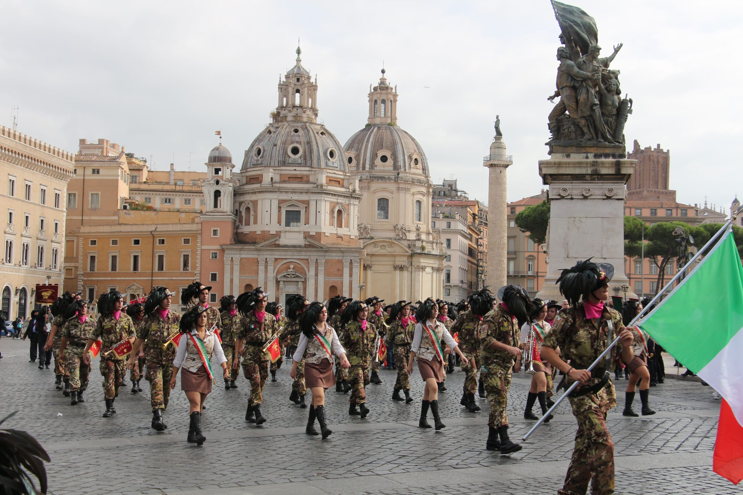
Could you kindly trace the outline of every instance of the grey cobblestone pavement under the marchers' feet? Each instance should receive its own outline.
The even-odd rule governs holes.
[[[167,430],[149,427],[149,384],[143,393],[120,391],[113,418],[101,417],[103,378],[95,362],[86,402],[71,406],[54,390],[51,370],[28,361],[28,343],[0,339],[0,417],[18,410],[4,426],[27,430],[48,450],[50,488],[55,494],[554,494],[573,448],[576,431],[568,404],[512,456],[484,449],[487,400],[479,413],[459,405],[464,373],[451,373],[439,394],[447,428],[417,426],[423,383],[412,378],[415,402],[390,400],[395,371],[382,370],[382,385],[367,387],[371,413],[348,416],[348,395],[328,390],[325,404],[333,435],[322,441],[304,433],[307,409],[288,400],[289,367],[267,382],[261,427],[244,422],[250,387],[221,382],[207,399],[202,427],[207,443],[186,443],[188,404],[180,384],[164,417]],[[269,378],[270,379],[270,378]],[[626,381],[617,381],[619,407],[609,413],[621,494],[739,494],[712,471],[719,401],[692,381],[666,380],[651,389],[655,416],[626,418]],[[523,419],[529,387],[519,373],[509,396],[510,436],[518,439],[533,422]],[[308,394],[308,401],[310,395]],[[639,410],[639,399],[635,409]],[[62,416],[58,416],[62,413]],[[429,419],[431,421],[431,419]],[[518,440],[520,442],[520,440]],[[302,485],[296,485],[302,483]]]

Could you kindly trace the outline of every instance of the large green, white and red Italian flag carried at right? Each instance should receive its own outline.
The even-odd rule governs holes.
[[[743,479],[743,266],[726,232],[640,326],[722,396],[716,473]]]

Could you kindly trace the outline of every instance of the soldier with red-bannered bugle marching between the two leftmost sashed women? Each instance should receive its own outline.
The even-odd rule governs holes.
[[[257,426],[266,422],[261,413],[261,404],[270,359],[264,346],[276,337],[276,318],[266,312],[268,295],[260,287],[243,292],[237,298],[236,304],[245,321],[236,335],[232,367],[233,370],[237,369],[238,356],[242,355],[242,371],[245,378],[250,381],[250,399],[247,401],[245,421],[255,423]]]

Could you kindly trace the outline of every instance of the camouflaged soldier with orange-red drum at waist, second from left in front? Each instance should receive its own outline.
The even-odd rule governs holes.
[[[104,418],[110,418],[116,413],[114,399],[119,396],[121,379],[126,375],[126,355],[118,355],[114,351],[117,344],[129,339],[136,332],[134,321],[129,315],[121,314],[124,307],[124,298],[121,292],[111,289],[107,294],[98,298],[98,323],[95,330],[88,337],[88,345],[82,351],[83,358],[90,365],[88,351],[98,338],[103,341],[100,346],[100,374],[103,376],[103,399],[106,399]],[[132,345],[129,343],[128,345]],[[132,387],[134,382],[132,381]]]

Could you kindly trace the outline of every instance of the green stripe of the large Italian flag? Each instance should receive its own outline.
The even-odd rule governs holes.
[[[743,327],[743,266],[733,232],[640,325],[694,373],[704,368]]]

